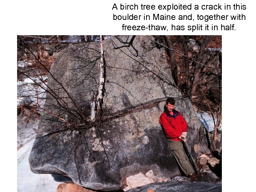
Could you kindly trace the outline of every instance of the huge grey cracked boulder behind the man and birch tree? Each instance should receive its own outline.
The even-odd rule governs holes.
[[[103,41],[106,83],[103,110],[95,122],[90,114],[99,84],[100,43],[71,45],[60,52],[50,70],[29,157],[34,173],[66,175],[78,185],[106,191],[123,189],[126,178],[140,172],[180,175],[159,125],[166,98],[176,98],[175,108],[188,123],[190,146],[201,123],[174,84],[165,50],[143,36],[129,44],[131,39]]]

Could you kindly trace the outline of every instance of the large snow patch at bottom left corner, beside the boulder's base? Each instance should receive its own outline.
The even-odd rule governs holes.
[[[22,120],[22,119],[21,119]],[[70,178],[54,174],[34,174],[28,161],[38,127],[37,119],[17,124],[17,192],[56,192]]]

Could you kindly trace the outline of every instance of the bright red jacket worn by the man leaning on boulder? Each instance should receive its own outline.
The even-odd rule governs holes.
[[[172,110],[173,115],[163,112],[160,116],[159,123],[164,128],[165,135],[168,139],[174,141],[181,141],[178,139],[182,132],[187,132],[187,123],[181,113],[176,110]]]

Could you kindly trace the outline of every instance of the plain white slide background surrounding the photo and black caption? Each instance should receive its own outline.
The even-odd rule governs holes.
[[[246,10],[229,11],[142,11],[112,10],[113,4],[229,4],[246,5]],[[255,1],[78,1],[23,0],[3,1],[1,18],[1,175],[11,181],[9,191],[17,189],[16,181],[16,36],[17,35],[222,35],[223,84],[223,191],[250,189],[254,178],[255,135]],[[222,6],[223,7],[223,6]],[[140,8],[140,7],[139,7]],[[232,7],[231,7],[232,8]],[[246,15],[245,21],[113,21],[113,14],[126,15]],[[194,17],[196,18],[196,17]],[[126,25],[196,25],[235,24],[235,31],[122,31]],[[252,177],[250,177],[252,176]],[[2,178],[3,180],[3,178]],[[4,183],[4,181],[2,181]],[[12,190],[13,187],[13,190]]]

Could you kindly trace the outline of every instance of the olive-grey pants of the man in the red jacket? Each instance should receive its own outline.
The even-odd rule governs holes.
[[[186,174],[193,174],[195,171],[188,159],[188,156],[183,148],[182,142],[178,142],[178,141],[173,141],[171,139],[169,140],[169,145],[170,148],[172,150],[172,152],[174,153],[175,159],[178,163],[178,165],[180,166],[181,170]],[[186,143],[187,145],[187,143]]]

